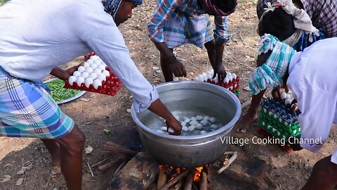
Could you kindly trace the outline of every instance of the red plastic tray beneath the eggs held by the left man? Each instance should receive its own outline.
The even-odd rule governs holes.
[[[102,82],[102,87],[98,87],[98,89],[95,89],[93,84],[90,84],[88,88],[84,83],[81,84],[81,87],[79,87],[76,82],[74,82],[73,85],[70,85],[67,80],[65,81],[64,88],[92,91],[99,94],[114,96],[121,87],[121,81],[116,75],[114,75],[114,72],[112,72],[110,68],[106,67],[105,69],[110,72],[110,77],[106,77],[106,80],[103,80]]]

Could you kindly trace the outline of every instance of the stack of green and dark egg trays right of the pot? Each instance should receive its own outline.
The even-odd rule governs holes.
[[[281,99],[266,99],[260,103],[258,114],[258,125],[266,132],[278,139],[300,135],[300,125],[298,123],[299,111],[291,110],[293,98],[290,94],[282,92]]]

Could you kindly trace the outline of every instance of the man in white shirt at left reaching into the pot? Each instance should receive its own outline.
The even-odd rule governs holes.
[[[181,125],[131,60],[117,26],[141,0],[11,0],[0,7],[0,136],[41,139],[60,164],[68,189],[81,189],[85,137],[37,81],[67,80],[74,68],[55,68],[95,51],[133,95],[180,134]]]

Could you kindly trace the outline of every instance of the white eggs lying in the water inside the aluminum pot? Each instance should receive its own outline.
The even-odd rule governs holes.
[[[176,117],[178,118],[178,117]],[[184,118],[183,121],[180,121],[183,126],[182,131],[183,135],[187,135],[189,132],[192,135],[198,134],[207,134],[209,132],[213,132],[220,127],[220,125],[216,125],[216,118],[209,117],[208,115],[196,115],[192,118]],[[158,133],[165,132],[174,132],[173,129],[167,127],[161,127],[157,130]],[[184,133],[185,132],[185,133]]]

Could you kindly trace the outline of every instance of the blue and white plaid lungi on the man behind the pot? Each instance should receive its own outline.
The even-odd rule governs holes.
[[[186,15],[170,17],[164,25],[164,37],[169,48],[183,44],[194,44],[203,48],[214,39],[213,26],[207,15]]]

